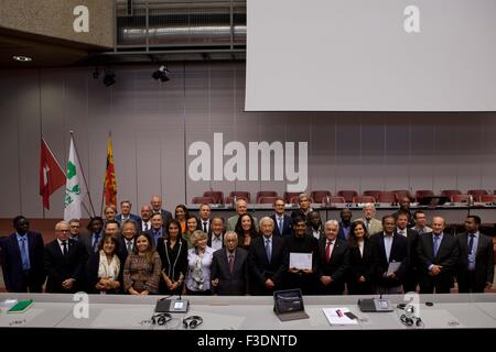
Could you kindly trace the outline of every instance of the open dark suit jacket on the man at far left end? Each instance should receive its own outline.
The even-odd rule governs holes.
[[[31,264],[31,277],[35,285],[41,287],[45,282],[45,273],[43,270],[43,237],[39,232],[28,231],[30,264]],[[6,288],[10,293],[22,292],[23,283],[23,270],[21,260],[21,250],[19,249],[18,238],[15,233],[3,238],[2,241],[2,270],[3,280],[6,282]]]

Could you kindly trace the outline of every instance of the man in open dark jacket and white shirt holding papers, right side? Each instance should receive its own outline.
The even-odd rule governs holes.
[[[405,219],[407,217],[405,216]],[[375,233],[370,241],[376,242],[378,249],[377,294],[402,294],[402,280],[408,266],[407,238],[395,232],[393,216],[382,217],[382,232]],[[395,263],[395,264],[392,264]],[[398,267],[396,267],[399,265]]]

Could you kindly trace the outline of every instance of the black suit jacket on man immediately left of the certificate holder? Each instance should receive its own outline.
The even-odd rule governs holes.
[[[272,235],[272,258],[270,263],[267,258],[265,240],[263,235],[252,239],[248,252],[250,289],[256,295],[272,294],[265,285],[268,278],[274,283],[274,289],[281,288],[284,273],[288,270],[288,250],[284,240]]]

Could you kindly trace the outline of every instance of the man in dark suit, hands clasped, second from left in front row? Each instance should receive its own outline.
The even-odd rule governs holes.
[[[46,292],[69,294],[83,288],[83,273],[87,253],[82,243],[69,239],[66,221],[55,226],[56,239],[45,246],[44,266],[47,274]]]

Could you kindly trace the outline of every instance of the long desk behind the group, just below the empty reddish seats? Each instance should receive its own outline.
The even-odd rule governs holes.
[[[187,205],[190,211],[196,211],[200,209],[200,205]],[[362,218],[364,208],[363,204],[333,204],[333,205],[322,205],[312,204],[313,210],[321,213],[321,218],[324,220],[336,219],[339,220],[339,212],[343,208],[349,208],[353,212],[353,218]],[[224,218],[231,217],[236,213],[234,205],[211,205],[212,212]],[[288,215],[291,211],[298,209],[296,205],[285,205],[285,212]],[[393,213],[398,211],[398,205],[391,204],[376,204],[377,215],[376,219],[381,219],[386,215]],[[465,221],[467,215],[478,216],[483,223],[496,223],[496,206],[494,204],[483,204],[476,202],[473,206],[467,206],[463,202],[449,202],[442,206],[436,206],[434,208],[428,206],[420,206],[418,204],[412,204],[410,207],[411,212],[416,210],[423,210],[428,216],[428,219],[432,219],[434,216],[443,217],[450,224],[462,224]],[[270,216],[273,213],[272,205],[261,205],[261,204],[249,204],[248,211],[256,218],[260,219],[263,216]]]

